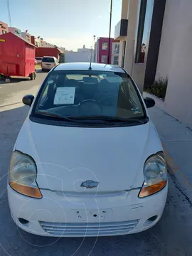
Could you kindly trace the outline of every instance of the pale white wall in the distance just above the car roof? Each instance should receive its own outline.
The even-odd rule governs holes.
[[[91,50],[73,52],[65,51],[65,63],[74,62],[90,62]],[[93,50],[92,50],[92,61],[93,61]]]

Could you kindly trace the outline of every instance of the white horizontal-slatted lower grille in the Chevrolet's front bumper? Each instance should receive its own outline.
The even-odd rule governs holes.
[[[134,229],[139,220],[114,223],[49,223],[40,221],[41,227],[51,235],[97,236],[124,235]]]

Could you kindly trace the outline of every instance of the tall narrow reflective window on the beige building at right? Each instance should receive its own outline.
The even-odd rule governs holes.
[[[151,17],[153,14],[154,0],[139,0],[137,47],[135,63],[144,63],[146,57],[146,47],[149,41],[151,28]]]

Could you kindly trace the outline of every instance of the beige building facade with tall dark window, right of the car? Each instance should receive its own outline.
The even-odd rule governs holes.
[[[124,69],[141,92],[166,81],[164,100],[156,98],[156,104],[192,129],[192,1],[123,0],[123,4],[126,1]]]

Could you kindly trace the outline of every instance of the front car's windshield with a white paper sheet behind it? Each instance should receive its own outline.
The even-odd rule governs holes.
[[[95,70],[51,72],[38,92],[32,115],[97,122],[146,117],[141,96],[127,73]]]

